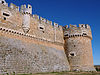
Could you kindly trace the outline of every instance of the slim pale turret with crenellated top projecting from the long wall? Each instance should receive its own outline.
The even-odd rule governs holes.
[[[28,31],[30,30],[30,15],[32,14],[32,6],[28,5],[28,8],[26,8],[26,5],[22,5],[21,13],[23,13],[23,31],[25,33],[28,33]]]

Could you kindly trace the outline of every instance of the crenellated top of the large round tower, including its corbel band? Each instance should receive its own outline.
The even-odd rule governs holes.
[[[91,28],[88,24],[79,24],[77,25],[66,25],[64,27],[64,36],[69,37],[77,37],[77,36],[85,36],[92,39]]]

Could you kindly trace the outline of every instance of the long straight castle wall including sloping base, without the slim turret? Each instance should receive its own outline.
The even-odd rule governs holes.
[[[62,27],[30,14],[26,34],[23,16],[16,5],[0,4],[0,74],[69,71]]]

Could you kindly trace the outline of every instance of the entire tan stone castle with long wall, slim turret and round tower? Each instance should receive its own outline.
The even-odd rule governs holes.
[[[0,0],[0,74],[96,71],[91,40],[88,24],[62,27]]]

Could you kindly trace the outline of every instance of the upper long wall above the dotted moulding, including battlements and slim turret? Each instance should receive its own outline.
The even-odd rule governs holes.
[[[36,38],[42,40],[45,38],[55,43],[64,43],[62,26],[41,16],[32,15],[31,5],[22,5],[19,12],[19,7],[12,3],[10,7],[2,4],[0,11],[0,26],[22,32],[25,35],[34,35]],[[14,31],[12,32],[14,34],[20,34],[20,36],[24,35]]]

